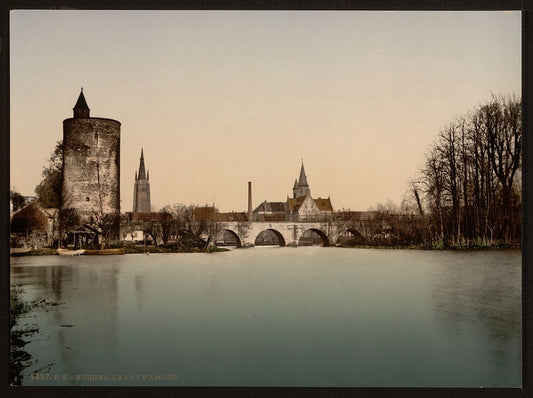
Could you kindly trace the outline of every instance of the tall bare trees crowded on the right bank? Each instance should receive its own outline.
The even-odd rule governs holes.
[[[519,244],[521,126],[521,100],[492,96],[439,132],[403,205],[421,243]]]

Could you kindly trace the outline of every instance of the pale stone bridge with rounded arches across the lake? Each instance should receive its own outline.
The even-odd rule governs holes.
[[[341,235],[368,238],[370,235],[386,233],[388,226],[375,220],[360,221],[254,221],[218,222],[219,231],[228,231],[237,241],[237,246],[254,246],[255,240],[263,231],[273,232],[281,246],[298,246],[306,231],[315,232],[324,246],[335,245]]]

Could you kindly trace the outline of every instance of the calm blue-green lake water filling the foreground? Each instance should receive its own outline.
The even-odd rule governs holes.
[[[18,257],[11,282],[65,302],[24,318],[23,385],[521,385],[519,251]]]

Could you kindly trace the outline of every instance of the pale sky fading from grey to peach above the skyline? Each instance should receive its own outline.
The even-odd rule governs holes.
[[[121,127],[121,211],[144,148],[154,209],[292,195],[400,204],[439,130],[521,93],[516,11],[76,11],[10,15],[10,186],[34,195],[80,88]]]

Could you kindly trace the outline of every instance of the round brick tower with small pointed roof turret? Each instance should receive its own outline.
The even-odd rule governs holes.
[[[63,121],[62,208],[84,222],[120,214],[120,122],[89,116],[83,89]]]

